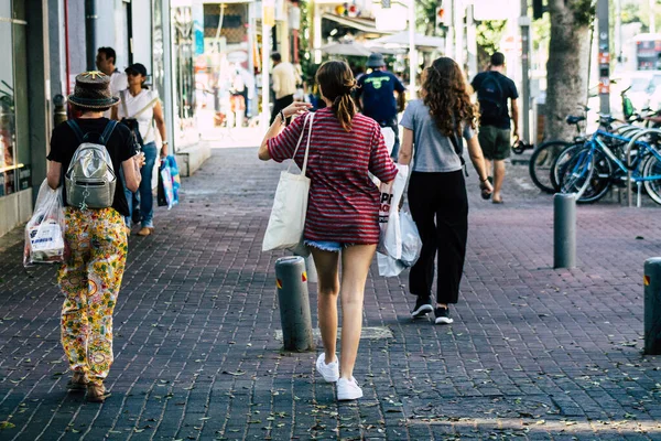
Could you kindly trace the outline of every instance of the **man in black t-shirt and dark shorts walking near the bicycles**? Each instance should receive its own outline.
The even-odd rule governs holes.
[[[480,107],[478,140],[487,171],[489,174],[492,171],[495,204],[502,204],[500,191],[505,180],[505,160],[509,158],[511,147],[510,119],[514,123],[514,138],[519,139],[519,93],[514,82],[502,74],[503,71],[505,55],[495,52],[488,71],[477,74],[472,83]],[[508,99],[512,108],[511,118]]]

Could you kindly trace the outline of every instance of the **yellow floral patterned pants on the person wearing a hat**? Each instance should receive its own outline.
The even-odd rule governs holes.
[[[128,240],[115,208],[66,207],[68,254],[57,281],[62,306],[62,345],[72,370],[101,384],[112,364],[112,311],[121,286]]]

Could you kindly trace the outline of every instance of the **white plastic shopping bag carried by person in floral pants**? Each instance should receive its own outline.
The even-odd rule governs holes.
[[[62,185],[57,190],[42,182],[32,217],[25,225],[23,266],[64,261],[64,203]]]

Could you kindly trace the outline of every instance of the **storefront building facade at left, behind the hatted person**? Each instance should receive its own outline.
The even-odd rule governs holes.
[[[0,0],[0,236],[32,214],[54,104],[96,69],[100,46],[115,49],[120,71],[144,64],[171,149],[187,161],[198,141],[192,9],[193,0]]]

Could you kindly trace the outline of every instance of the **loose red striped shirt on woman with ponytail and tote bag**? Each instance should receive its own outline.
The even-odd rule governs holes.
[[[274,161],[292,158],[304,123],[305,115],[268,141]],[[294,158],[299,168],[303,166],[307,130]],[[303,235],[306,240],[379,243],[379,189],[368,171],[383,182],[397,175],[379,125],[357,114],[347,132],[329,107],[317,110],[307,159],[306,175],[312,182]]]

